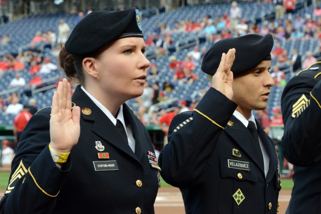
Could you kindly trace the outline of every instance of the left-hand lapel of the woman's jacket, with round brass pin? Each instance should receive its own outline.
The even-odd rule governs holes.
[[[111,120],[94,104],[94,102],[86,95],[83,90],[78,86],[74,92],[72,101],[80,107],[80,110],[83,108],[89,108],[91,110],[90,114],[84,114],[81,112],[81,117],[87,121],[92,122],[91,130],[106,140],[108,143],[113,146],[119,148],[121,151],[125,152],[132,158],[137,160],[136,155],[133,153],[129,145],[123,142],[123,136],[117,130],[115,125],[111,122]],[[93,143],[95,139],[93,139]],[[105,142],[101,142],[105,143]]]

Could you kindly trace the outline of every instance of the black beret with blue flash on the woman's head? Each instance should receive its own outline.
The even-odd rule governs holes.
[[[84,55],[125,37],[143,38],[137,9],[95,11],[75,26],[65,48],[71,54]]]

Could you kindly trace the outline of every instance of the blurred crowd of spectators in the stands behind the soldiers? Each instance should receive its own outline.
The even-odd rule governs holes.
[[[315,6],[313,14],[305,14],[303,17],[299,13],[294,13],[295,0],[265,0],[257,2],[257,4],[265,4],[273,2],[275,7],[275,18],[257,24],[248,20],[242,19],[242,8],[237,2],[232,2],[230,10],[223,16],[206,15],[197,20],[178,20],[174,26],[169,26],[167,23],[156,23],[152,32],[148,32],[145,43],[148,49],[152,50],[156,59],[164,57],[168,60],[169,67],[166,72],[172,72],[174,75],[170,80],[161,79],[161,71],[157,67],[157,63],[152,63],[148,68],[148,79],[144,85],[144,92],[141,97],[135,99],[137,107],[136,114],[138,118],[145,124],[160,126],[167,135],[168,126],[172,118],[186,110],[194,109],[198,100],[178,100],[174,103],[162,106],[159,103],[164,103],[169,100],[167,94],[176,90],[176,86],[194,84],[199,79],[199,76],[194,72],[199,66],[207,52],[206,47],[194,46],[193,50],[188,52],[184,60],[179,61],[175,55],[172,55],[174,34],[197,32],[198,37],[205,38],[208,43],[214,43],[220,39],[243,36],[246,34],[272,34],[275,38],[275,47],[271,53],[276,64],[272,65],[271,75],[277,86],[285,86],[285,73],[282,71],[289,66],[293,71],[305,69],[311,63],[316,62],[316,57],[319,56],[321,48],[321,9],[318,5]],[[256,4],[256,3],[253,3]],[[79,22],[84,16],[82,11],[73,11],[78,13],[77,21]],[[87,12],[86,14],[90,13]],[[11,147],[16,149],[16,144],[19,141],[19,133],[23,130],[24,125],[28,122],[31,115],[37,112],[37,101],[31,96],[30,91],[33,88],[43,87],[42,74],[48,74],[58,68],[56,63],[52,62],[49,57],[43,55],[43,44],[49,47],[52,56],[58,56],[60,47],[58,44],[67,40],[70,29],[64,20],[60,20],[57,29],[48,32],[37,32],[26,46],[17,56],[12,54],[3,56],[0,60],[0,78],[6,72],[15,73],[15,77],[11,80],[9,87],[17,88],[24,87],[24,95],[29,96],[29,103],[20,103],[20,97],[16,93],[12,93],[0,97],[0,112],[5,114],[15,115],[13,121],[15,129],[15,140]],[[57,34],[55,33],[57,32]],[[284,40],[318,40],[318,47],[314,47],[303,56],[298,54],[297,49],[293,49],[291,53],[287,53],[287,49],[281,47],[281,42]],[[0,46],[6,46],[11,41],[9,35],[0,36]],[[42,47],[42,48],[41,48]],[[27,82],[22,75],[23,70],[28,69],[29,75],[33,78]],[[164,72],[164,71],[163,71]],[[60,79],[62,76],[60,77]],[[59,80],[57,80],[59,81]],[[75,87],[75,83],[72,82]],[[207,90],[205,87],[202,94]],[[21,95],[20,95],[21,96]],[[50,99],[50,98],[48,98]],[[157,108],[150,107],[157,105]],[[261,115],[265,116],[261,116]],[[270,115],[270,116],[268,116]],[[282,126],[282,115],[280,108],[276,107],[272,112],[257,112],[257,116],[261,118],[262,126],[266,132],[269,132],[270,126]],[[267,116],[267,117],[266,117]],[[263,119],[262,119],[263,118]],[[263,125],[264,124],[264,125]],[[263,128],[264,128],[263,127]]]

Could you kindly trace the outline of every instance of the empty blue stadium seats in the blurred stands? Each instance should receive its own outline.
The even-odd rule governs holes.
[[[297,3],[302,3],[303,1],[297,1]],[[240,2],[239,7],[242,8],[242,18],[246,19],[248,22],[258,22],[262,21],[262,12],[264,14],[273,14],[274,7],[272,3],[257,3],[254,2]],[[300,8],[295,13],[301,14],[304,17],[305,14],[312,14],[313,5]],[[174,27],[175,22],[193,20],[196,22],[198,19],[202,19],[206,15],[211,15],[213,19],[217,16],[223,16],[224,13],[229,14],[230,3],[220,3],[220,4],[209,4],[209,5],[198,5],[198,6],[187,6],[185,8],[179,8],[175,11],[171,11],[168,13],[161,13],[159,16],[155,16],[152,14],[145,14],[142,16],[142,26],[145,35],[145,39],[147,39],[148,34],[153,33],[156,25],[158,23],[167,23],[171,28]],[[286,18],[294,20],[295,15]],[[76,24],[77,15],[69,15],[69,14],[43,14],[43,15],[33,15],[29,17],[24,17],[21,19],[17,19],[13,22],[9,22],[6,24],[0,25],[0,32],[2,35],[9,34],[11,38],[11,44],[8,46],[0,46],[0,57],[8,55],[8,54],[18,54],[18,51],[24,47],[28,46],[35,36],[36,32],[47,32],[48,30],[52,30],[54,33],[58,34],[57,27],[59,24],[59,20],[64,19],[65,22],[73,28]],[[261,24],[259,23],[259,26]],[[180,33],[173,34],[173,45],[172,49],[175,50],[175,44],[177,41],[182,40],[184,38],[188,38],[194,36],[196,38],[201,38],[199,33]],[[207,50],[211,47],[212,42],[201,42],[200,48],[205,47]],[[314,51],[315,47],[318,47],[318,40],[298,40],[298,41],[281,41],[282,48],[288,51],[288,54],[291,55],[291,52],[294,48],[299,51],[299,55],[303,56],[306,51]],[[179,61],[184,60],[189,51],[193,50],[193,46],[181,50],[180,53],[171,52],[170,55],[175,55]],[[146,53],[152,53],[152,49],[147,49]],[[43,52],[44,57],[50,57],[52,62],[58,63],[57,57],[51,53],[50,48],[46,48]],[[157,59],[151,59],[151,63],[155,63],[157,65],[159,71],[159,79],[151,79],[150,82],[153,83],[155,81],[159,82],[159,85],[162,87],[164,81],[171,82],[174,71],[169,70],[169,56],[159,57]],[[272,67],[276,64],[275,59],[272,60]],[[194,84],[191,85],[179,85],[177,83],[173,83],[175,85],[175,91],[167,94],[170,98],[179,98],[184,100],[191,101],[195,99],[195,95],[193,92],[206,90],[210,83],[206,77],[206,75],[201,71],[200,64],[201,62],[197,62],[196,70],[193,71],[196,75],[199,76],[199,80],[196,80]],[[0,91],[4,91],[8,89],[10,81],[14,78],[16,72],[6,72],[3,77],[0,78]],[[29,68],[21,71],[21,74],[28,82],[32,75],[29,74]],[[44,79],[55,77],[58,75],[62,75],[62,72],[57,70],[52,74],[42,75],[41,77]],[[294,74],[287,73],[286,81],[288,81]],[[23,90],[23,89],[21,89]],[[267,111],[270,112],[274,106],[280,105],[280,96],[282,93],[283,87],[275,86],[271,88],[271,95],[268,101]],[[37,100],[38,108],[44,108],[46,106],[51,105],[51,97],[54,89],[50,89],[44,92],[40,92],[34,95],[34,98]],[[21,98],[21,102],[26,104],[30,97],[23,96]],[[135,100],[127,101],[128,105],[135,111],[137,110],[137,105]],[[0,112],[0,124],[12,124],[12,116],[5,116],[3,112]]]

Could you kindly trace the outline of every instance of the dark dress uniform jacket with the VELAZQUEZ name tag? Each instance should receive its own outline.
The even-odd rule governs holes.
[[[256,122],[270,158],[265,178],[250,132],[233,116],[235,108],[234,102],[210,88],[197,110],[172,120],[159,164],[164,180],[181,189],[186,213],[277,212],[280,183],[273,142]],[[233,156],[233,149],[239,155]],[[229,161],[243,161],[249,170],[228,167]],[[235,194],[242,196],[239,205]]]

